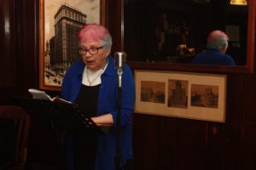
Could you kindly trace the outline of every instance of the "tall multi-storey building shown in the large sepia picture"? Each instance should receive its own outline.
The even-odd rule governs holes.
[[[62,3],[55,14],[55,52],[52,59],[55,71],[67,70],[74,60],[79,59],[77,36],[86,17],[86,14],[67,3]]]

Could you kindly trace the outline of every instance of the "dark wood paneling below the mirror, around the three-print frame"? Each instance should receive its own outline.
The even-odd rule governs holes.
[[[256,167],[256,81],[232,67],[129,63],[133,69],[227,75],[226,122],[135,113],[135,169],[253,170]],[[243,71],[242,71],[243,70]],[[241,73],[243,72],[243,73]]]

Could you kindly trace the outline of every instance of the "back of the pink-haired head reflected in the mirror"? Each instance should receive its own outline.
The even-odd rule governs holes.
[[[215,30],[212,31],[207,38],[207,48],[217,49],[221,53],[225,54],[228,48],[229,37],[224,31]]]

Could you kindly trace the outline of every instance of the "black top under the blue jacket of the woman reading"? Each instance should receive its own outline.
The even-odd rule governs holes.
[[[75,101],[87,116],[96,116],[98,94],[101,84],[85,86],[82,84]],[[75,170],[94,170],[96,156],[96,131],[80,128],[73,133]]]

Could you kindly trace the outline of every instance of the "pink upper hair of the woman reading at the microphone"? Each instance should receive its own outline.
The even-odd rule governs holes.
[[[79,31],[78,38],[80,42],[102,42],[104,47],[110,47],[112,45],[112,39],[108,29],[98,24],[85,24]]]

